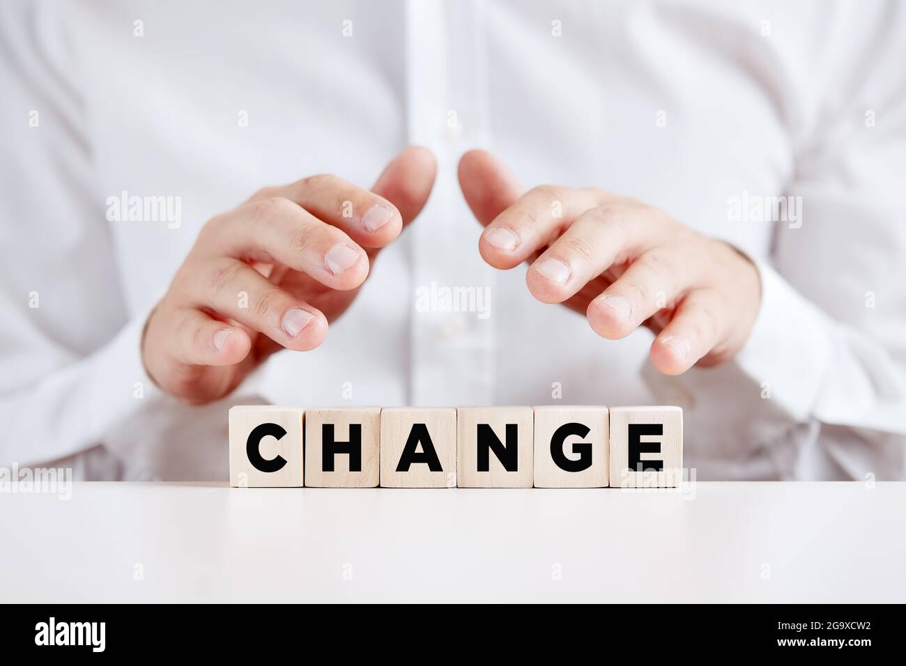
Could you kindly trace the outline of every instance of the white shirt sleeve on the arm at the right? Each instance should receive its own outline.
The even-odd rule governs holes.
[[[821,101],[792,132],[796,174],[783,194],[798,198],[800,216],[776,222],[772,255],[757,261],[762,303],[746,346],[728,367],[646,376],[656,392],[685,396],[708,449],[766,452],[782,478],[898,479],[906,475],[906,7],[874,4],[838,19],[845,26],[828,31],[826,59],[806,59],[824,88],[812,91]],[[737,413],[733,429],[711,427],[718,411]]]

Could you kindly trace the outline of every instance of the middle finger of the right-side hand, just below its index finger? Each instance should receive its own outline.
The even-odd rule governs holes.
[[[648,208],[622,203],[592,208],[532,263],[525,283],[539,301],[562,303],[612,265],[662,241],[662,236],[660,222]]]

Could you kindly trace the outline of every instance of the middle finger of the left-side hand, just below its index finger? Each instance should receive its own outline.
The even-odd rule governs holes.
[[[368,276],[368,256],[352,238],[287,198],[244,204],[202,233],[213,256],[277,261],[332,289],[354,289]]]

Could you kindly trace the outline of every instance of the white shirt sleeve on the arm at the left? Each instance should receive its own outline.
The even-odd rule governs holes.
[[[122,294],[59,14],[0,7],[0,466],[72,457],[161,398]]]

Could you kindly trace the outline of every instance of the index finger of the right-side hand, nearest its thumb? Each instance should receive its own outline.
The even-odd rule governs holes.
[[[478,250],[495,268],[512,268],[553,243],[589,208],[602,203],[593,189],[544,185],[530,189],[485,227]]]

